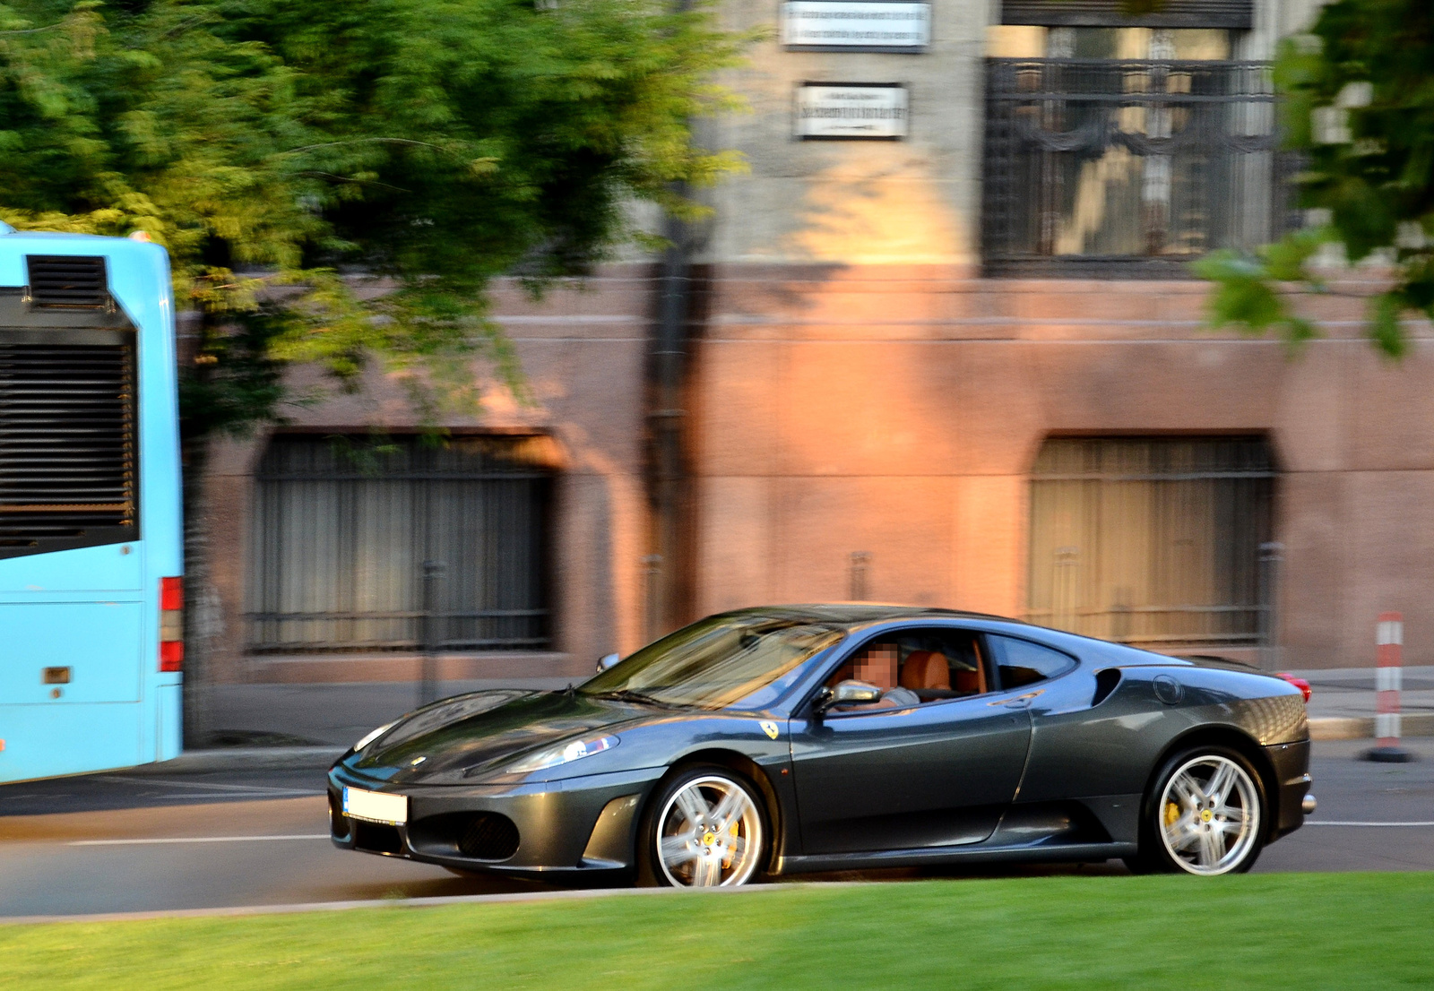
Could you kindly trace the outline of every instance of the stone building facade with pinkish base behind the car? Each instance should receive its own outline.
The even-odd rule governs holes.
[[[581,674],[698,615],[846,598],[1296,668],[1372,664],[1375,617],[1397,610],[1408,661],[1434,663],[1428,328],[1380,359],[1371,283],[1344,272],[1301,300],[1325,336],[1292,354],[1209,330],[1187,274],[1299,222],[1259,63],[1312,3],[882,11],[921,6],[915,50],[855,50],[793,44],[793,7],[728,0],[728,26],[771,37],[726,80],[750,113],[703,138],[750,171],[701,194],[711,219],[663,260],[538,303],[500,287],[532,402],[489,389],[449,423],[447,468],[403,440],[409,468],[347,472],[343,492],[323,489],[333,469],[295,473],[315,437],[413,430],[377,377],[217,450],[217,674],[413,677],[417,558],[354,535],[404,526],[455,565],[502,558],[462,594],[439,579],[447,677]],[[804,10],[868,24],[872,4]],[[888,139],[802,138],[802,108],[840,106],[843,85],[901,89],[872,98],[899,109],[872,118]],[[519,479],[535,509],[495,516]],[[331,512],[285,522],[320,490]],[[478,516],[488,536],[442,536]],[[519,531],[526,565],[500,539]]]

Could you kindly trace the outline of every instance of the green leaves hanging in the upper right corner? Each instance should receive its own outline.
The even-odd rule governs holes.
[[[1288,141],[1306,158],[1301,205],[1328,221],[1253,255],[1225,251],[1199,262],[1219,283],[1212,318],[1295,344],[1314,336],[1281,288],[1321,291],[1311,261],[1338,242],[1351,262],[1388,261],[1391,281],[1371,297],[1367,328],[1398,357],[1407,347],[1401,318],[1434,317],[1434,4],[1331,3],[1311,34],[1283,42],[1275,86]]]

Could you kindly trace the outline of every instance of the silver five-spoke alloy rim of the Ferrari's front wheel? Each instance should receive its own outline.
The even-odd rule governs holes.
[[[695,777],[657,820],[657,862],[677,888],[744,885],[761,856],[761,815],[737,782]]]

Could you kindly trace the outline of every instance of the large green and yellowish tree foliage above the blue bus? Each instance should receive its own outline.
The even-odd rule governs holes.
[[[741,42],[664,0],[9,0],[0,218],[169,250],[191,436],[274,416],[291,361],[377,357],[420,403],[475,354],[518,383],[489,280],[693,211],[671,191],[739,165],[688,120]]]

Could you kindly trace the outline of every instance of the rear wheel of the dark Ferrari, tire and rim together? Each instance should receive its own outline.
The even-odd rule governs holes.
[[[1236,750],[1193,747],[1164,763],[1146,796],[1134,873],[1243,873],[1265,845],[1269,803]]]

